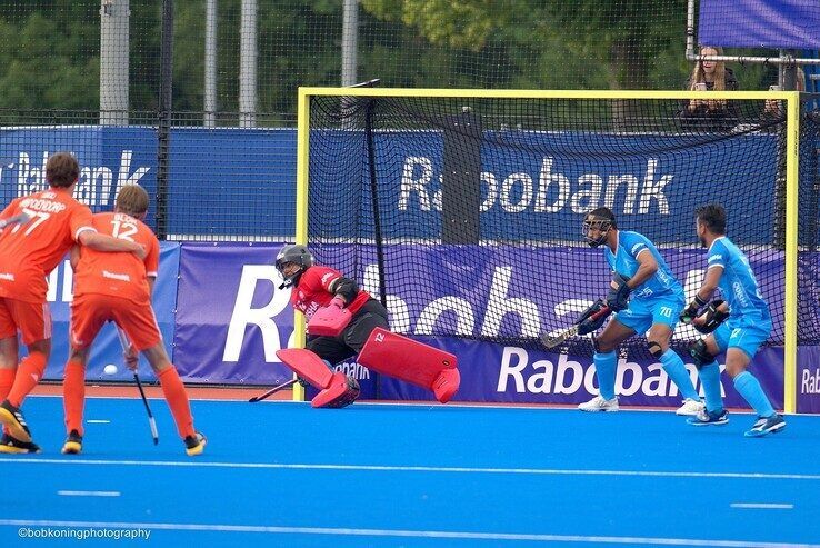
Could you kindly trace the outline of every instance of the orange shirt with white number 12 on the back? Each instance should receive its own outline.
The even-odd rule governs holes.
[[[156,278],[159,269],[159,241],[148,226],[126,213],[97,213],[93,227],[102,235],[141,243],[146,258],[133,253],[102,252],[80,248],[74,271],[74,297],[84,293],[110,295],[137,303],[150,303],[148,277]]]

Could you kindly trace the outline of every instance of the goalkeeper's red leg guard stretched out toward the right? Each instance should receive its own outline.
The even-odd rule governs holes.
[[[359,352],[359,363],[431,390],[447,403],[459,389],[456,356],[377,327]]]

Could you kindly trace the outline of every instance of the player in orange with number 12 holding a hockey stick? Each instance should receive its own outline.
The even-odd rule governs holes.
[[[71,303],[71,350],[63,382],[68,432],[63,454],[82,451],[86,363],[91,343],[108,321],[113,321],[131,341],[126,352],[130,369],[137,370],[137,352],[143,352],[151,363],[186,452],[194,456],[204,449],[206,438],[193,429],[188,393],[168,358],[151,307],[151,291],[159,270],[159,241],[142,222],[147,211],[148,193],[139,185],[129,185],[117,195],[113,213],[93,216],[93,227],[100,233],[144,246],[144,259],[88,248],[74,248],[72,253],[74,299]]]

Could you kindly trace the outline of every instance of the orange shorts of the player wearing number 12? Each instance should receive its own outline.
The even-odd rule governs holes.
[[[113,321],[141,352],[162,340],[151,305],[138,305],[110,295],[86,293],[71,302],[71,346],[88,348],[102,326]]]

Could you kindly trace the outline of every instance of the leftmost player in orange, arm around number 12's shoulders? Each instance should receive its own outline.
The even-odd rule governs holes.
[[[72,198],[80,173],[68,152],[46,163],[49,190],[14,199],[0,220],[24,213],[27,220],[0,231],[0,452],[38,452],[20,406],[42,377],[51,352],[51,313],[46,277],[74,245],[98,251],[144,257],[133,241],[98,233],[91,210]],[[29,356],[18,367],[20,331]]]

